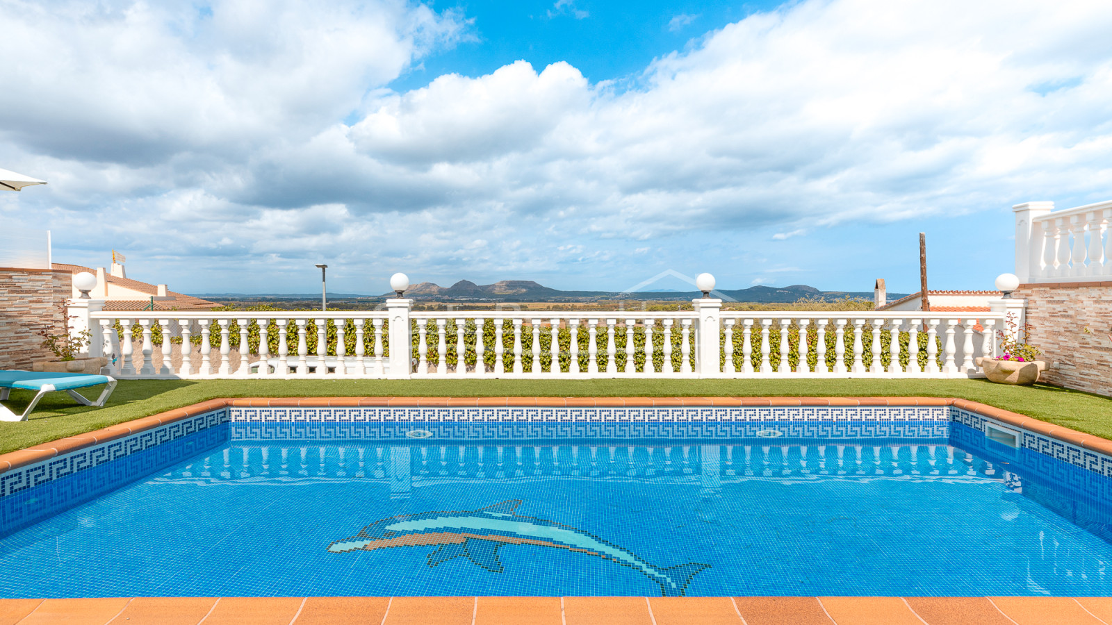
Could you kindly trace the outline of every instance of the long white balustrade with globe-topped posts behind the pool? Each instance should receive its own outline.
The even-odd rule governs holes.
[[[967,377],[1003,312],[694,310],[106,312],[121,378]],[[107,348],[105,346],[108,346]],[[395,349],[395,346],[405,346]]]

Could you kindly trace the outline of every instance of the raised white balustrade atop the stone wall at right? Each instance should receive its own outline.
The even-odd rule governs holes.
[[[1015,275],[1020,281],[1112,279],[1112,200],[1068,210],[1027,202],[1015,212]]]

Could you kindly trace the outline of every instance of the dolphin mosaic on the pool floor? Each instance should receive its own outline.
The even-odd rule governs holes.
[[[433,512],[393,516],[375,522],[350,538],[328,545],[342,554],[385,547],[435,546],[428,566],[465,557],[483,568],[502,573],[498,549],[506,545],[535,545],[582,553],[639,571],[661,585],[665,597],[683,596],[696,573],[709,565],[687,563],[655,567],[637,555],[590,534],[552,520],[514,514],[520,499],[508,499],[470,512]]]

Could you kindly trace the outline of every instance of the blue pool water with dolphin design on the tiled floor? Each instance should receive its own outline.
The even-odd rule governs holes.
[[[1105,478],[947,421],[729,440],[232,427],[20,494],[0,597],[1112,594]],[[99,496],[62,509],[78,494]]]

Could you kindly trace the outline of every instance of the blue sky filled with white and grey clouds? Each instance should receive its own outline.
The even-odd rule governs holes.
[[[992,288],[1112,197],[1112,4],[0,0],[0,225],[186,292]],[[683,288],[675,279],[649,288]]]

